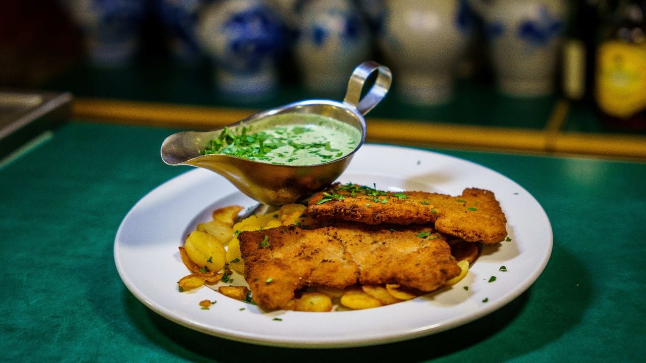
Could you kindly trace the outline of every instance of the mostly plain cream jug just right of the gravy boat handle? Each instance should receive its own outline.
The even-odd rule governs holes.
[[[437,105],[453,95],[455,65],[471,32],[463,0],[388,0],[380,47],[403,101]]]

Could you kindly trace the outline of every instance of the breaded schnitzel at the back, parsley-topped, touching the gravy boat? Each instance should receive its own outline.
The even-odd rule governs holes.
[[[439,232],[482,244],[495,244],[507,236],[505,213],[494,193],[477,188],[450,196],[418,191],[384,192],[337,183],[311,196],[307,213],[323,220],[368,224],[435,223]]]

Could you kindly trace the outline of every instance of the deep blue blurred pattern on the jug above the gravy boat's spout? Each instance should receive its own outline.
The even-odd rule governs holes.
[[[284,26],[264,6],[235,12],[220,32],[226,34],[227,57],[221,66],[236,72],[256,72],[283,47]]]

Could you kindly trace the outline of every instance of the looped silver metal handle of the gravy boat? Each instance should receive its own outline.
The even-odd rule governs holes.
[[[366,96],[361,98],[361,90],[364,88],[366,79],[375,71],[379,72],[375,83],[368,90]],[[343,103],[354,107],[362,115],[365,115],[386,96],[392,81],[393,75],[388,67],[373,61],[361,63],[350,76],[348,90],[346,91],[346,97],[343,99]]]

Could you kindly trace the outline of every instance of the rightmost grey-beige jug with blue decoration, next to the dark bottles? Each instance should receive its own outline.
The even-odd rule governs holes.
[[[554,88],[567,0],[471,0],[483,18],[499,88],[544,96]]]

